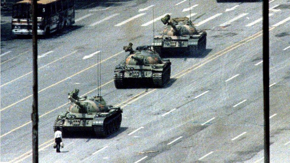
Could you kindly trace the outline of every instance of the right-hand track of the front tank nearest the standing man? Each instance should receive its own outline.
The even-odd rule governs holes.
[[[103,126],[93,126],[94,132],[98,137],[107,137],[113,132],[119,130],[122,122],[122,113],[116,113],[114,117],[105,119]]]

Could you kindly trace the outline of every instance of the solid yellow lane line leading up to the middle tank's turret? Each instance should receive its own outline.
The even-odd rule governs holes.
[[[75,73],[75,74],[73,74],[73,75],[71,75],[71,76],[69,76],[69,77],[66,77],[66,78],[64,78],[64,79],[62,79],[62,80],[60,80],[60,81],[58,81],[58,82],[56,82],[56,83],[54,83],[54,84],[52,84],[52,85],[46,87],[46,88],[43,88],[43,89],[41,89],[40,91],[38,91],[38,93],[40,93],[40,92],[42,92],[42,91],[45,91],[45,90],[47,90],[48,88],[51,88],[51,87],[53,87],[53,86],[56,86],[57,84],[62,83],[62,82],[64,82],[65,80],[68,80],[68,79],[70,79],[71,77],[74,77],[75,75],[78,75],[78,74],[80,74],[80,73],[82,73],[82,72],[84,72],[84,71],[86,71],[86,70],[88,70],[88,69],[91,69],[91,68],[97,66],[98,64],[103,63],[104,61],[107,61],[108,59],[111,59],[111,58],[113,58],[113,57],[119,55],[119,54],[122,53],[122,52],[123,52],[123,51],[121,51],[121,52],[119,52],[119,53],[116,53],[116,54],[114,54],[113,56],[110,56],[110,57],[108,57],[108,58],[106,58],[106,59],[100,61],[99,63],[93,64],[93,65],[90,66],[90,67],[87,67],[87,68],[85,68],[85,69],[83,69],[83,70],[81,70],[81,71],[79,71],[79,72],[77,72],[77,73]],[[17,102],[14,102],[13,104],[8,105],[7,107],[4,107],[4,108],[1,109],[0,111],[6,110],[7,108],[10,108],[10,107],[12,107],[12,106],[18,104],[19,102],[22,102],[22,101],[24,101],[24,100],[26,100],[26,99],[28,99],[28,98],[30,98],[30,97],[32,97],[32,94],[29,95],[29,96],[26,96],[25,98],[23,98],[23,99],[21,99],[21,100],[19,100],[19,101],[17,101]]]

